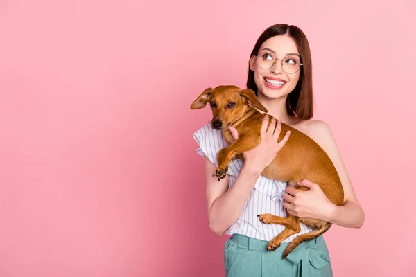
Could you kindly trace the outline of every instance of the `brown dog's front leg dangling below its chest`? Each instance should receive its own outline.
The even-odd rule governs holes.
[[[220,151],[218,151],[218,168],[216,169],[216,172],[214,173],[213,177],[218,177],[218,181],[220,179],[225,178],[225,176],[227,175],[229,163],[231,162],[232,158],[236,157],[236,155],[238,154],[241,154],[241,152],[254,148],[258,143],[259,141],[250,138],[250,136],[246,137],[240,135],[239,139],[237,139],[236,142],[232,143],[232,145],[229,145],[227,148],[223,148]]]

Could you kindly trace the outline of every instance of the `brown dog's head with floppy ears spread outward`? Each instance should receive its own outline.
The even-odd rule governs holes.
[[[214,129],[225,129],[239,120],[248,107],[268,112],[261,105],[251,89],[240,89],[235,86],[218,86],[205,89],[191,105],[191,109],[201,109],[209,103],[212,110],[211,125]]]

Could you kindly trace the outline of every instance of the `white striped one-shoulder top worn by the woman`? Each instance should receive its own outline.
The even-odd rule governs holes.
[[[217,153],[221,148],[227,147],[227,141],[223,137],[223,133],[216,129],[212,129],[211,123],[207,123],[197,132],[193,134],[193,139],[198,143],[199,148],[196,150],[202,157],[208,159],[218,166]],[[228,188],[234,184],[239,172],[243,166],[240,159],[231,161],[228,166],[229,184]],[[214,173],[214,172],[213,172]],[[286,182],[268,179],[261,175],[257,179],[254,188],[250,191],[248,199],[244,204],[243,211],[238,220],[225,232],[227,235],[239,233],[247,235],[251,238],[270,241],[284,230],[283,225],[279,224],[263,224],[257,215],[263,213],[271,213],[280,217],[286,217],[286,208],[284,208],[283,194],[286,190]],[[291,235],[283,242],[291,242],[297,235],[308,233],[311,229],[301,223],[301,231],[295,235]]]

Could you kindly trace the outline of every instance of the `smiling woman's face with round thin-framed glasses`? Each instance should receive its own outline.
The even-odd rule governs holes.
[[[271,64],[270,69],[265,69]],[[288,35],[270,37],[261,44],[257,58],[251,57],[250,69],[254,71],[258,93],[267,98],[287,97],[300,77],[300,56],[295,41]],[[293,73],[296,69],[299,70]]]

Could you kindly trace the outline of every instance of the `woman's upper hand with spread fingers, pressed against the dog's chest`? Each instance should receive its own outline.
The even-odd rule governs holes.
[[[239,132],[234,127],[229,127],[234,139],[238,139]],[[283,148],[286,142],[289,139],[291,131],[286,132],[283,139],[277,143],[279,139],[279,134],[281,131],[281,122],[272,118],[270,126],[268,127],[268,115],[263,117],[263,122],[261,123],[261,143],[256,147],[243,152],[245,166],[250,168],[250,171],[254,174],[260,175],[263,172],[264,168],[270,165],[275,159],[277,153]]]

